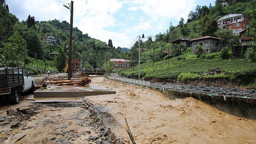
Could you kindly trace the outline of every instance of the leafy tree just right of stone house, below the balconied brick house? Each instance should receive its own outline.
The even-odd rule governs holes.
[[[222,47],[227,47],[228,46],[228,42],[230,39],[233,38],[232,32],[231,30],[226,30],[226,29],[218,29],[218,31],[216,31],[214,33],[218,38],[221,38],[221,42],[222,42]]]

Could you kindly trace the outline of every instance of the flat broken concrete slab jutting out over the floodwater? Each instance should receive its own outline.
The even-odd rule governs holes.
[[[89,87],[48,86],[47,89],[35,91],[34,98],[75,98],[110,94],[116,94],[116,92],[98,85]]]

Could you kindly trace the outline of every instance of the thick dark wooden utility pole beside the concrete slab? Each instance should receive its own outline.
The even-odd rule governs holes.
[[[72,69],[71,69],[71,59],[72,59],[72,32],[73,32],[73,3],[71,1],[71,9],[70,9],[70,32],[69,32],[69,62],[68,62],[68,80],[71,79]]]

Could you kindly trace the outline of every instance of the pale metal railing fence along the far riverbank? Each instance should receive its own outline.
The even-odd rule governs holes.
[[[142,85],[142,86],[150,85],[149,81],[136,80],[132,78],[125,78],[125,77],[118,77],[118,76],[109,76],[109,75],[107,77],[111,80],[121,81],[125,83],[130,83],[130,84],[136,84],[136,85]]]

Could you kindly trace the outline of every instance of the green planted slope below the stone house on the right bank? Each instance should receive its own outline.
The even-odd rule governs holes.
[[[202,74],[211,68],[220,68],[231,74],[256,68],[255,63],[248,63],[247,60],[220,60],[219,52],[209,55],[214,55],[214,59],[197,59],[194,55],[182,54],[178,57],[186,57],[186,60],[177,60],[178,57],[173,57],[170,59],[170,65],[168,65],[168,60],[157,61],[154,63],[154,66],[153,62],[147,62],[141,64],[141,74],[144,78],[176,79],[181,73],[191,72]],[[135,67],[134,71],[124,69],[118,71],[118,73],[137,76],[138,66]]]

